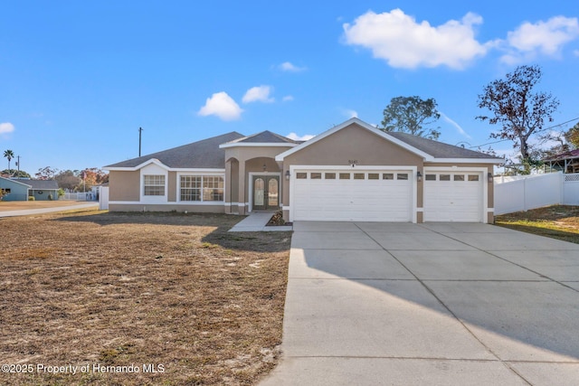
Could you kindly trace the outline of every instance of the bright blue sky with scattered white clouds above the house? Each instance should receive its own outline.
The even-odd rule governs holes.
[[[441,141],[479,146],[494,127],[475,119],[477,97],[519,64],[542,67],[538,89],[561,101],[555,124],[579,118],[578,11],[568,0],[0,0],[0,150],[31,174],[102,167],[138,155],[138,127],[144,155],[231,131],[305,137],[352,116],[378,124],[390,99],[413,95],[437,100]]]

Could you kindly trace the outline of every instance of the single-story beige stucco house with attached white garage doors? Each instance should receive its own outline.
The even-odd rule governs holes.
[[[286,221],[492,222],[501,158],[351,118],[306,142],[239,133],[105,166],[111,211],[248,214]]]

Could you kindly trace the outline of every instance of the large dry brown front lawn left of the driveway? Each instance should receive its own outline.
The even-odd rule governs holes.
[[[21,372],[3,367],[0,384],[259,381],[279,355],[290,233],[228,233],[240,220],[0,219],[0,358]]]

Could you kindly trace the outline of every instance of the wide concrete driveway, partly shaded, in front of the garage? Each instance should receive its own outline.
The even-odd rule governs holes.
[[[298,221],[282,349],[261,385],[576,385],[579,244]]]

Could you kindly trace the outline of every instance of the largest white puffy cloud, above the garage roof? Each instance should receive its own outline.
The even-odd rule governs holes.
[[[476,57],[485,55],[495,42],[481,44],[474,26],[482,24],[478,14],[466,14],[462,20],[450,20],[439,26],[416,20],[400,9],[375,14],[368,11],[354,24],[344,24],[346,43],[372,50],[375,58],[392,67],[448,66],[462,69]]]

